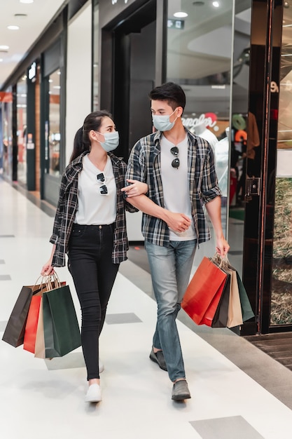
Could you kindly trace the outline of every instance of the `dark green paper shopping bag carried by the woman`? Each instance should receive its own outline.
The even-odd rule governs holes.
[[[43,295],[46,358],[62,357],[81,346],[81,335],[69,285]]]

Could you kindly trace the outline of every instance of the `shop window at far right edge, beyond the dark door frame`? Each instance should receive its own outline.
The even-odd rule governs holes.
[[[292,10],[284,7],[281,46],[275,195],[267,195],[267,216],[274,199],[271,325],[292,323]],[[272,110],[271,110],[272,111]],[[272,115],[271,115],[272,117]],[[272,240],[270,240],[272,241]]]

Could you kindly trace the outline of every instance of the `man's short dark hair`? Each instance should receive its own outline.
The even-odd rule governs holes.
[[[186,107],[186,95],[181,86],[174,82],[167,82],[153,88],[149,93],[149,98],[151,100],[166,100],[167,104],[176,109],[176,107]]]

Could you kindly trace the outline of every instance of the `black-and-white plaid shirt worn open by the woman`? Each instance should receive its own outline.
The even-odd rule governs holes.
[[[50,243],[56,245],[52,262],[53,266],[65,265],[65,253],[68,252],[69,238],[74,224],[75,214],[78,210],[78,175],[83,169],[82,161],[85,154],[88,154],[88,151],[72,161],[62,175],[53,235],[50,237]],[[127,250],[129,248],[127,241],[125,208],[130,212],[137,212],[137,209],[125,201],[123,198],[123,192],[120,191],[120,189],[125,186],[125,162],[111,153],[109,153],[109,156],[111,158],[113,175],[115,176],[117,187],[116,221],[113,234],[112,261],[113,264],[119,264],[127,259]]]

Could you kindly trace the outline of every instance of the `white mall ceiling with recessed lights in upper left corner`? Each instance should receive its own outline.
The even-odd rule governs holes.
[[[0,48],[0,89],[22,58],[29,53],[29,48],[43,29],[67,2],[34,0],[31,4],[22,4],[20,0],[0,0],[0,46],[9,46],[4,51]],[[20,29],[9,30],[10,25]]]

